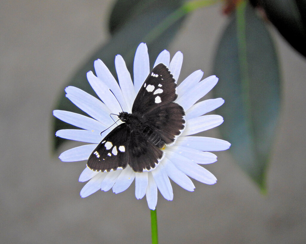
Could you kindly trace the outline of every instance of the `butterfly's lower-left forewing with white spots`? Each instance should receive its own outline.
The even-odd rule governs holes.
[[[87,167],[100,172],[124,169],[129,163],[129,135],[130,129],[125,123],[117,126],[91,153]]]

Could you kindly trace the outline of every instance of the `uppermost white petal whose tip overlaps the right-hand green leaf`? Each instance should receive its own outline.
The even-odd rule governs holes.
[[[183,96],[176,100],[176,103],[180,104],[185,111],[187,111],[193,104],[199,99],[205,96],[218,82],[218,78],[215,75],[207,77],[203,81],[196,84]]]

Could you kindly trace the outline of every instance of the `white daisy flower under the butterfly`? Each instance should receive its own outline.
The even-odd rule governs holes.
[[[157,57],[154,67],[163,63],[177,81],[182,62],[183,54],[181,52],[177,52],[170,61],[170,53],[164,50]],[[66,97],[90,117],[69,111],[53,111],[55,117],[82,129],[58,130],[56,136],[89,143],[63,152],[59,156],[63,162],[88,160],[103,138],[122,123],[119,120],[117,124],[106,130],[114,123],[110,114],[119,114],[122,110],[128,113],[132,112],[134,99],[150,73],[147,46],[145,43],[140,43],[136,50],[134,83],[120,55],[115,58],[119,84],[101,60],[96,60],[94,67],[97,76],[89,71],[87,73],[88,82],[103,102],[79,88],[68,86],[65,89]],[[224,103],[222,98],[196,103],[218,82],[218,78],[215,76],[207,77],[201,81],[202,76],[203,72],[197,70],[177,86],[178,97],[175,103],[181,105],[185,111],[185,130],[177,137],[173,145],[166,145],[162,149],[164,156],[158,165],[152,170],[144,172],[134,172],[129,165],[123,170],[118,169],[110,172],[96,172],[86,167],[79,178],[80,182],[88,181],[80,192],[81,197],[88,197],[100,189],[103,191],[112,189],[114,193],[120,193],[126,190],[135,179],[136,198],[141,199],[146,195],[149,208],[154,210],[157,204],[157,189],[165,199],[173,200],[170,179],[188,191],[195,189],[190,178],[208,185],[215,184],[217,181],[215,176],[201,165],[217,161],[217,156],[211,151],[226,150],[230,147],[230,143],[211,137],[192,136],[214,128],[223,122],[220,115],[204,115],[221,106]],[[155,101],[155,103],[157,102]],[[101,133],[101,131],[104,132]],[[117,155],[117,152],[116,149],[113,152],[114,155]],[[97,154],[98,152],[95,152],[95,155]]]

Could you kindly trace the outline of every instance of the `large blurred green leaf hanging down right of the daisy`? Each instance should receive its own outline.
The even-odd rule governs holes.
[[[220,130],[237,164],[266,189],[266,170],[279,112],[280,73],[274,44],[263,21],[242,3],[218,45],[215,95],[225,99]]]

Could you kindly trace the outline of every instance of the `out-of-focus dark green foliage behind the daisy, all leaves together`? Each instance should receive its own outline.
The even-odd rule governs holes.
[[[136,47],[145,42],[153,62],[167,48],[188,13],[215,2],[118,0],[109,18],[111,38],[80,66],[65,87],[73,85],[96,96],[86,79],[96,59],[103,60],[116,77],[114,57],[121,54],[131,72]],[[226,101],[218,111],[225,120],[219,126],[222,137],[232,144],[230,152],[237,164],[264,191],[281,90],[278,58],[267,23],[270,20],[306,57],[306,2],[250,0],[250,3],[253,8],[245,1],[225,1],[229,17],[215,54],[213,69],[219,83],[214,92]],[[54,109],[84,114],[65,98],[64,92],[60,97]],[[54,133],[72,127],[54,118],[54,149],[66,141],[54,137]]]

